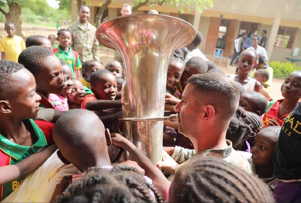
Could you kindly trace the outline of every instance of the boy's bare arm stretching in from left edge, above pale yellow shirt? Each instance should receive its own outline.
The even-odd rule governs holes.
[[[42,164],[44,164],[44,162],[55,152],[56,149],[56,145],[53,144],[41,152],[30,155],[18,164],[0,167],[0,174],[3,174],[0,176],[0,185],[23,178],[34,172]]]

